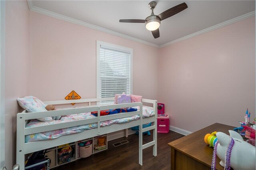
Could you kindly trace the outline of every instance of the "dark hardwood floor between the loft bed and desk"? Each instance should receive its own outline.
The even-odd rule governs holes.
[[[152,133],[151,133],[152,134]],[[170,131],[168,134],[158,133],[157,156],[153,156],[153,146],[143,150],[143,165],[140,166],[138,135],[118,138],[108,142],[108,150],[82,158],[74,162],[53,168],[52,170],[170,170],[169,142],[184,135]],[[112,144],[128,140],[129,143],[114,147]],[[152,141],[151,136],[143,136],[143,144]]]

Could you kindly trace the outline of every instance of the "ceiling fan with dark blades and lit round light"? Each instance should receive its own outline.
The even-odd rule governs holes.
[[[154,36],[154,38],[160,37],[159,33],[159,26],[162,20],[169,18],[175,14],[178,14],[179,12],[182,12],[186,8],[188,8],[187,4],[183,2],[182,4],[179,4],[177,6],[174,6],[164,12],[162,12],[159,15],[154,14],[154,8],[156,8],[156,2],[152,1],[148,4],[149,8],[152,10],[152,13],[150,16],[148,16],[145,20],[137,20],[137,19],[131,19],[131,20],[119,20],[119,22],[130,22],[130,23],[145,23],[146,29],[150,30]]]

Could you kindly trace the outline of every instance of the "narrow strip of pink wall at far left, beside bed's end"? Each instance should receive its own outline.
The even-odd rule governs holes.
[[[26,1],[6,1],[5,163],[16,163],[17,97],[28,95],[29,10]]]

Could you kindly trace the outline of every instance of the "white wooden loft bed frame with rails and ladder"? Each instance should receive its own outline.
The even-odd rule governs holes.
[[[92,102],[96,103],[99,101],[110,101],[114,100],[114,97],[104,98],[104,99],[80,99],[80,100],[68,100],[68,101],[47,101],[44,102],[48,105],[61,105],[61,104],[68,104],[68,103],[88,103],[86,107],[79,107],[79,108],[67,108],[67,109],[60,109],[55,111],[44,111],[44,112],[36,112],[36,113],[26,113],[23,111],[22,113],[17,114],[17,148],[16,148],[16,164],[20,165],[20,169],[25,169],[25,154],[36,152],[38,150],[44,150],[47,148],[59,146],[66,143],[75,142],[78,140],[83,140],[84,138],[91,138],[102,134],[107,134],[110,132],[115,132],[118,130],[127,129],[130,127],[140,126],[139,127],[139,164],[142,165],[142,150],[148,148],[149,146],[153,146],[153,155],[157,155],[157,100],[150,100],[150,99],[142,99],[142,103],[151,103],[153,107],[151,109],[154,110],[155,114],[152,117],[147,117],[142,119],[142,103],[126,103],[126,104],[112,104],[112,105],[91,105]],[[124,107],[136,107],[139,106],[139,111],[128,112],[128,113],[118,113],[114,115],[106,115],[100,116],[100,111],[108,110],[108,109],[118,109]],[[52,117],[52,116],[60,116],[60,115],[72,115],[78,113],[86,113],[98,111],[98,117],[78,120],[78,121],[71,121],[66,123],[58,123],[53,125],[44,125],[40,127],[30,127],[26,128],[26,123],[30,119],[38,119],[42,117]],[[131,117],[134,115],[140,115],[140,119],[131,121],[128,123],[110,125],[107,127],[100,127],[100,122],[108,121],[112,119],[119,119],[124,117]],[[153,122],[152,126],[142,128],[143,124]],[[86,125],[90,123],[97,123],[98,128],[85,130],[80,133],[69,134],[66,136],[60,136],[59,138],[49,139],[49,140],[40,140],[35,142],[28,142],[25,143],[25,136],[29,134],[35,134],[40,132],[46,132],[51,130],[57,130],[61,128],[67,127],[75,127],[79,125]],[[153,140],[146,144],[142,145],[142,132],[146,132],[148,130],[153,130]],[[127,134],[126,134],[127,136]]]

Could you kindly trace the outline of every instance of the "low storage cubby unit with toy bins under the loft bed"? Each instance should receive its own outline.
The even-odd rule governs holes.
[[[104,147],[104,148],[102,148],[100,150],[95,149],[95,147],[98,145],[98,137],[105,137],[105,145],[106,145],[106,147]],[[104,135],[101,135],[101,136],[96,136],[96,137],[93,137],[93,138],[87,138],[87,139],[76,141],[76,142],[72,142],[72,143],[66,144],[65,146],[56,146],[56,147],[48,148],[47,149],[47,153],[45,154],[45,157],[46,158],[50,158],[50,160],[51,160],[50,168],[54,168],[56,166],[67,164],[69,162],[72,162],[72,161],[80,159],[78,143],[86,142],[88,140],[92,140],[92,144],[93,144],[92,154],[95,154],[95,153],[98,153],[98,152],[101,152],[103,150],[108,149],[108,137],[107,137],[107,134],[104,134]],[[71,154],[69,155],[70,159],[68,159],[68,162],[62,163],[59,160],[58,153],[62,150],[62,148],[67,147],[67,146],[70,146],[72,148]],[[32,153],[27,154],[26,158],[28,156],[30,156],[31,154]]]

